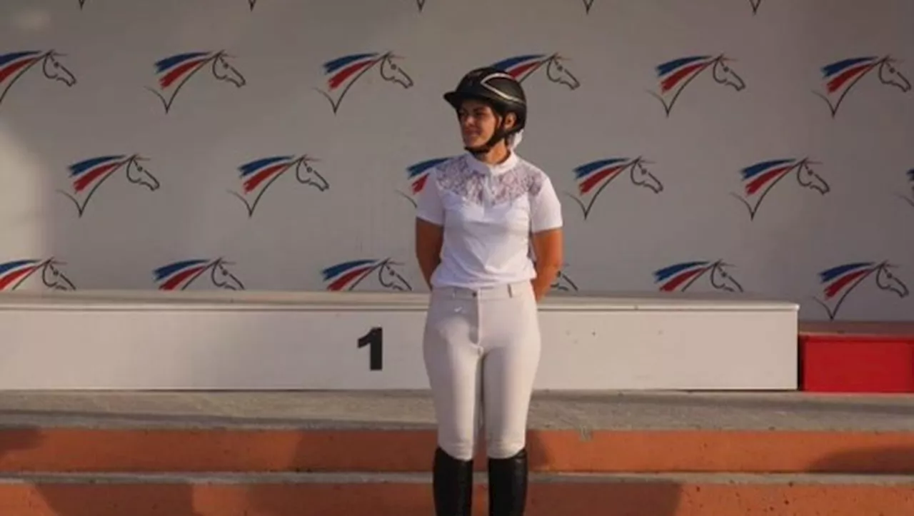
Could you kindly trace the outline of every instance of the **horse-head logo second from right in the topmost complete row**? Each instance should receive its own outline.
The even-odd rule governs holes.
[[[723,86],[732,87],[734,90],[742,91],[746,88],[743,81],[729,64],[732,58],[727,58],[723,54],[717,56],[687,56],[666,61],[656,67],[657,79],[660,81],[659,92],[648,91],[657,100],[664,105],[666,116],[670,116],[673,107],[682,92],[698,76],[711,70],[711,78],[714,82]]]

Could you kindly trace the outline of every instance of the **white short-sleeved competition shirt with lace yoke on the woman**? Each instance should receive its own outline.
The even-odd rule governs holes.
[[[444,227],[432,287],[482,288],[536,278],[530,233],[562,226],[549,176],[512,152],[495,165],[464,153],[429,172],[416,215]]]

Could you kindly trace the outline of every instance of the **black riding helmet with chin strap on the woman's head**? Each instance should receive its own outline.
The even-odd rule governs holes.
[[[495,128],[492,138],[480,147],[467,147],[471,153],[485,153],[495,143],[519,132],[526,126],[526,95],[517,79],[494,67],[476,68],[463,76],[457,89],[444,94],[455,111],[460,110],[463,100],[481,100],[492,107],[502,121]],[[514,128],[505,130],[505,116],[515,113],[517,118]]]

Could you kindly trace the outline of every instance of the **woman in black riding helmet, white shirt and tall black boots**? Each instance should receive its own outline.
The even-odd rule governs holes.
[[[470,515],[482,417],[489,514],[521,516],[537,302],[562,263],[561,205],[547,174],[515,153],[526,125],[517,80],[475,69],[444,99],[467,153],[430,172],[416,220],[416,256],[431,290],[423,355],[438,420],[435,511]]]

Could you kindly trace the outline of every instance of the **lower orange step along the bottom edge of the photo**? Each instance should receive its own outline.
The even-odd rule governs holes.
[[[0,479],[10,516],[431,516],[428,476],[320,479]],[[910,516],[914,479],[814,475],[550,476],[531,479],[526,516]],[[485,516],[486,486],[473,515]]]

